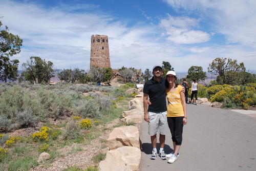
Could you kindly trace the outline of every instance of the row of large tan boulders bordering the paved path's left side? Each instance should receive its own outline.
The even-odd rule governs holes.
[[[126,125],[116,127],[108,138],[110,151],[105,160],[99,163],[100,171],[138,171],[141,160],[141,143],[139,139],[139,123],[143,122],[143,89],[138,89],[136,98],[129,102],[129,111],[123,111],[121,119]],[[137,89],[136,89],[137,91]]]

